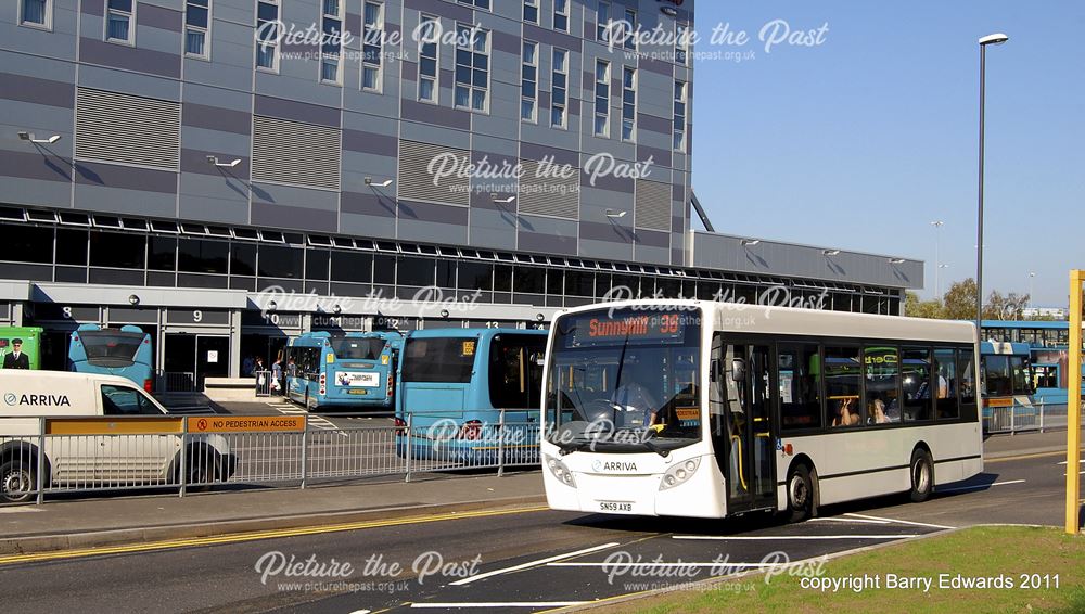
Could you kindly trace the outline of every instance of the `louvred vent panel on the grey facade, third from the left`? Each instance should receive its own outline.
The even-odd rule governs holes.
[[[436,161],[436,162],[434,162]],[[434,172],[442,167],[458,170],[471,162],[467,150],[399,141],[399,197],[408,201],[433,201],[452,205],[471,204],[471,180],[467,177],[441,177],[434,184]]]

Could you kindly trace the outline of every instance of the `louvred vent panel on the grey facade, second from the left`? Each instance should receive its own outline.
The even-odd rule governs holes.
[[[340,189],[339,128],[257,115],[253,118],[253,179]]]

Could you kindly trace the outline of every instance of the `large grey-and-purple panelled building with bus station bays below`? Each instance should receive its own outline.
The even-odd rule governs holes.
[[[901,314],[922,261],[698,219],[693,50],[609,21],[680,33],[694,2],[4,2],[0,324],[42,327],[49,369],[136,324],[202,381],[305,331],[540,327],[624,289]]]

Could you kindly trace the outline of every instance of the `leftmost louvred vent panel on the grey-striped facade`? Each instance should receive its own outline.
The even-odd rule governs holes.
[[[77,158],[179,168],[180,103],[87,88],[78,93]]]

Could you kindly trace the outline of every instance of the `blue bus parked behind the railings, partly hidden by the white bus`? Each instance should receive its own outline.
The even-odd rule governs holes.
[[[396,398],[399,456],[482,464],[503,450],[507,462],[537,461],[546,340],[546,331],[522,329],[409,333]]]

